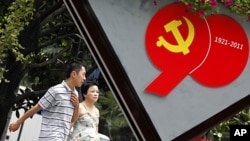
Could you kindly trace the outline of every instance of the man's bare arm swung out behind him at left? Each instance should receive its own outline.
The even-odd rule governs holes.
[[[38,111],[40,111],[42,108],[39,104],[36,104],[34,107],[32,107],[31,109],[29,109],[27,112],[24,113],[24,115],[19,118],[16,122],[13,122],[10,124],[9,126],[9,130],[10,132],[15,132],[19,126],[29,117],[33,116],[35,113],[37,113]]]

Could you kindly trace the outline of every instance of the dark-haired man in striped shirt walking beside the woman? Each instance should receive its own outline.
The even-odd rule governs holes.
[[[49,88],[34,107],[10,124],[9,130],[16,131],[27,118],[42,110],[39,141],[66,141],[70,123],[78,117],[79,101],[75,87],[83,84],[85,74],[85,67],[81,63],[71,63],[66,69],[66,80]]]

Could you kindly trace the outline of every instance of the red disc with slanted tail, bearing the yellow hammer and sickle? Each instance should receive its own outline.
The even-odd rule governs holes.
[[[194,70],[208,52],[210,35],[206,21],[175,3],[159,10],[146,30],[146,51],[161,74],[147,92],[166,96]]]

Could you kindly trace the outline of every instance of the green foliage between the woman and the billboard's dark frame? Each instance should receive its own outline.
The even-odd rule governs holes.
[[[103,93],[101,93],[97,103],[97,106],[102,109],[100,110],[100,122],[103,122],[103,127],[101,127],[100,131],[108,135],[110,140],[135,140],[113,94],[103,89],[101,92]]]

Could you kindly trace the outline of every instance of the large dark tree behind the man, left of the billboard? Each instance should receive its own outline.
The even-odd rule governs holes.
[[[62,0],[0,2],[0,135],[8,115],[33,106],[49,86],[62,80],[72,60],[94,64]],[[25,81],[24,81],[25,80]],[[34,91],[17,94],[20,83]],[[17,112],[17,116],[18,116]]]

